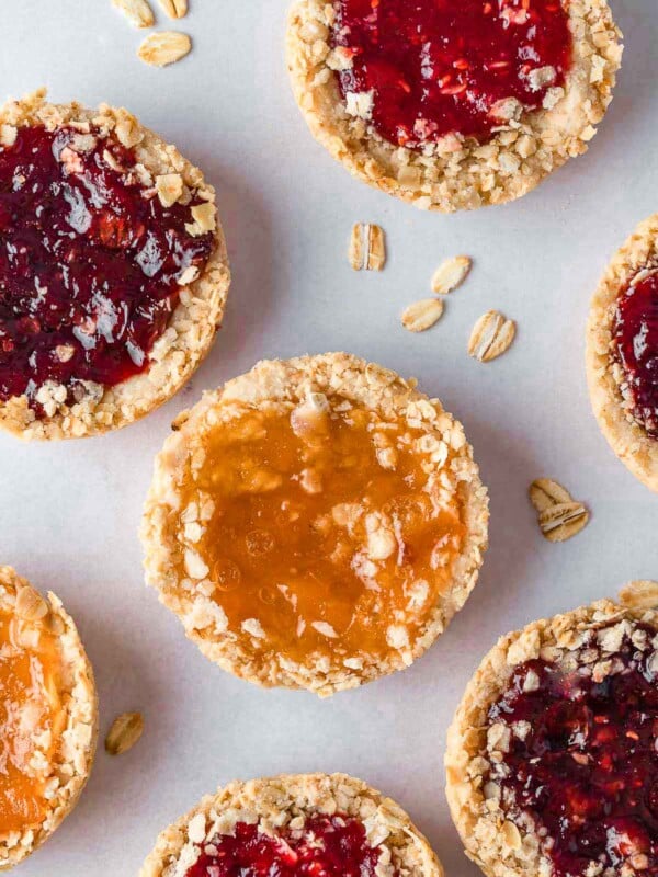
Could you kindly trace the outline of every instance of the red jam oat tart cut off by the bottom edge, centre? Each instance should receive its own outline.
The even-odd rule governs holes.
[[[390,798],[345,774],[230,783],[160,834],[139,877],[443,877]]]

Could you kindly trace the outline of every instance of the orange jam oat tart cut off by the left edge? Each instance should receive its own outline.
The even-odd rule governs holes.
[[[22,862],[73,809],[91,771],[91,665],[60,601],[0,567],[0,869]]]

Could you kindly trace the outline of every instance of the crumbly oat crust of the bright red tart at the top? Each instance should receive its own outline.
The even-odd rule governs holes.
[[[347,113],[328,45],[333,5],[296,0],[287,29],[295,99],[316,139],[358,179],[417,207],[442,213],[503,204],[587,150],[612,100],[621,33],[605,0],[569,0],[574,66],[545,109],[525,113],[484,145],[453,135],[428,155],[394,147]]]

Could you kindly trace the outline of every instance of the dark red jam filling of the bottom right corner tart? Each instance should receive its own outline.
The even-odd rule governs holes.
[[[529,661],[489,711],[491,721],[530,722],[524,739],[512,729],[506,775],[496,774],[496,782],[508,813],[530,812],[547,831],[556,877],[585,877],[592,861],[603,866],[597,874],[619,874],[627,863],[622,874],[658,875],[655,631],[636,629],[647,634],[648,650],[637,650],[626,635],[603,681],[585,675],[583,667],[567,674]],[[531,672],[538,687],[524,691]]]

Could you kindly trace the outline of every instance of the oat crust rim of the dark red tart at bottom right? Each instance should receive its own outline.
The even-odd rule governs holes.
[[[624,626],[633,622],[658,629],[658,613],[602,600],[533,622],[501,637],[468,683],[447,732],[446,795],[466,855],[488,877],[553,874],[553,865],[542,852],[532,821],[512,821],[500,805],[496,784],[485,782],[495,760],[491,752],[504,745],[497,742],[492,732],[489,707],[503,694],[518,664],[535,658],[552,662],[572,660],[579,649],[591,652],[592,647],[605,660],[619,649]]]

